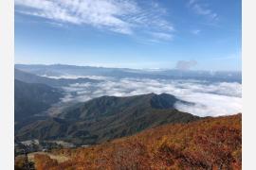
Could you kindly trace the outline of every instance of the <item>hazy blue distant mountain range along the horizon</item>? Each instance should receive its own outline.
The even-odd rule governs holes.
[[[179,79],[179,78],[196,78],[210,81],[237,81],[242,82],[241,72],[231,71],[186,71],[186,70],[138,70],[128,68],[104,68],[91,66],[76,66],[64,64],[15,64],[15,68],[26,71],[38,76],[115,76],[115,77],[138,77],[138,78],[163,78],[163,79]]]

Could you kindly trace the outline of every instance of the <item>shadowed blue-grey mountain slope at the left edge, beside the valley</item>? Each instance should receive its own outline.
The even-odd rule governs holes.
[[[14,81],[14,119],[15,122],[47,110],[63,96],[58,89],[45,84]]]

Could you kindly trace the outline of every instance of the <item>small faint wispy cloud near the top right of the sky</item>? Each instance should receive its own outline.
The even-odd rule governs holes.
[[[198,15],[204,15],[211,21],[217,21],[218,14],[209,8],[208,4],[203,4],[199,0],[190,0],[188,6]]]

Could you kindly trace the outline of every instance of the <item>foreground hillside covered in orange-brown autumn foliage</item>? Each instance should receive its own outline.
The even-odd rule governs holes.
[[[155,127],[109,143],[35,156],[43,169],[241,169],[242,115]]]

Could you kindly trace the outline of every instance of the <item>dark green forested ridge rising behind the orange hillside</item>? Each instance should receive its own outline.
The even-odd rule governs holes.
[[[28,121],[15,131],[20,140],[64,140],[73,144],[100,144],[149,127],[188,123],[200,119],[174,109],[183,102],[174,95],[102,96],[65,109],[56,117]]]

